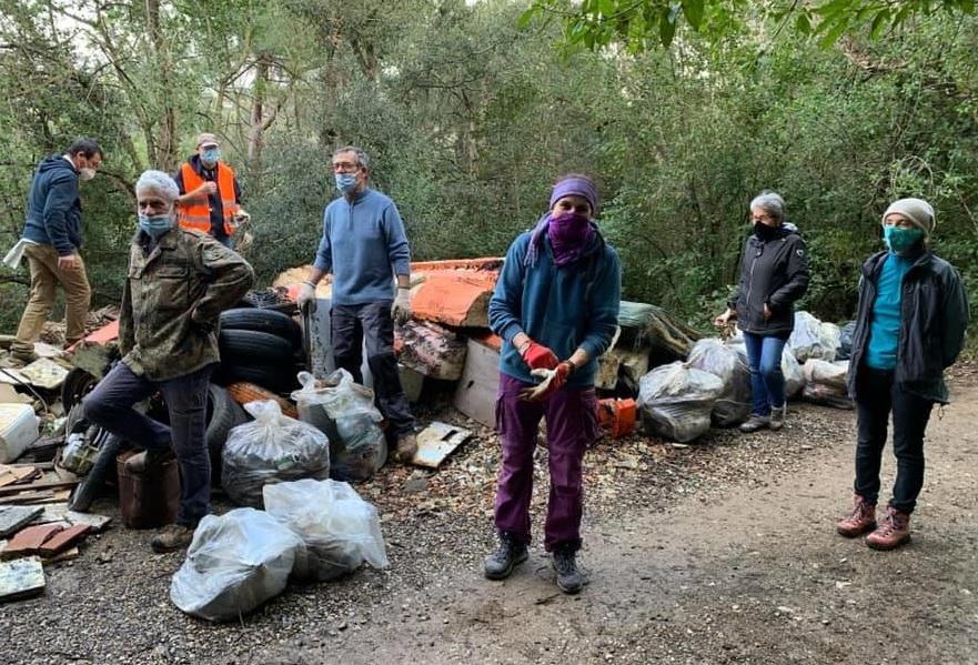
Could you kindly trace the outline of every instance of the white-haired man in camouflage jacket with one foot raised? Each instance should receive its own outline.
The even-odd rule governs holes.
[[[172,460],[180,464],[180,510],[151,542],[157,552],[185,547],[210,511],[211,467],[205,441],[208,384],[220,361],[220,313],[251,288],[251,266],[216,240],[177,225],[177,183],[147,171],[135,183],[139,231],[119,316],[122,361],[84,399],[85,416],[144,447],[125,467],[142,473]],[[132,409],[160,391],[170,426]],[[171,447],[172,446],[172,447]]]

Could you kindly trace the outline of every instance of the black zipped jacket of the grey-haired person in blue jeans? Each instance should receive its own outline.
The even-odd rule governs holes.
[[[753,233],[740,256],[740,280],[727,306],[737,311],[740,330],[787,335],[795,326],[795,301],[808,289],[808,252],[794,224],[784,223],[769,238]],[[764,305],[770,310],[765,319]]]

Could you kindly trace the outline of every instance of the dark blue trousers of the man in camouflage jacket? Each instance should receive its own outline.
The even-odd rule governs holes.
[[[85,416],[142,449],[165,450],[171,442],[180,464],[177,523],[191,528],[211,508],[211,457],[208,454],[208,384],[212,367],[170,381],[150,381],[118,363],[84,399]],[[163,393],[170,426],[132,409],[154,392]]]

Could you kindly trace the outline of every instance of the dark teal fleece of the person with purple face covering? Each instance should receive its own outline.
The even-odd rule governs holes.
[[[581,346],[588,361],[567,381],[572,389],[594,385],[597,357],[607,351],[618,324],[622,301],[622,262],[599,233],[577,261],[557,268],[546,235],[536,265],[524,265],[531,233],[523,233],[506,252],[503,271],[490,301],[490,326],[503,337],[500,371],[520,381],[538,383],[530,375],[513,345],[524,332],[548,346],[561,360]]]

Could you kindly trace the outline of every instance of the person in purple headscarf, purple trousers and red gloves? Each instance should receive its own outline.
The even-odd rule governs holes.
[[[597,210],[589,178],[562,178],[550,212],[510,245],[488,308],[490,325],[504,341],[496,402],[503,460],[495,500],[500,546],[485,560],[485,576],[508,577],[528,556],[533,452],[545,419],[544,548],[568,594],[585,583],[576,561],[584,451],[598,436],[597,359],[615,335],[622,299],[622,263],[594,222]]]

